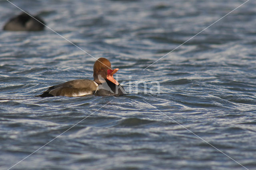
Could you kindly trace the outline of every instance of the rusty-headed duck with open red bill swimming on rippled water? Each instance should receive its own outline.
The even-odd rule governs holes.
[[[94,80],[76,79],[59,85],[49,87],[36,97],[79,97],[86,95],[96,96],[122,96],[126,92],[122,85],[113,77],[119,69],[111,69],[111,63],[106,58],[99,58],[93,66]]]

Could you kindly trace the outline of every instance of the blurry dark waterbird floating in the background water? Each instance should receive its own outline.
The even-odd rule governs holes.
[[[8,31],[42,31],[44,30],[45,22],[38,16],[33,16],[33,17],[28,13],[22,12],[18,16],[11,18],[4,25],[3,30],[8,30]],[[40,21],[41,23],[38,22],[37,20]]]

